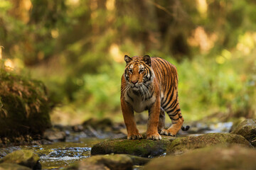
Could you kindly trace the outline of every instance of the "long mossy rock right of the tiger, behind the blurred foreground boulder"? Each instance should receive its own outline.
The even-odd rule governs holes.
[[[191,149],[213,145],[239,144],[250,147],[245,137],[230,133],[208,133],[199,136],[178,137],[166,149],[166,154],[183,154]]]

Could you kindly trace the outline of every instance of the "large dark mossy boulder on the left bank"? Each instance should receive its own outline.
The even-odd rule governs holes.
[[[50,107],[41,81],[0,72],[0,136],[41,135],[50,127]]]

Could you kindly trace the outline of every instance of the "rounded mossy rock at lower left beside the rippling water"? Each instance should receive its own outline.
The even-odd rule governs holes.
[[[0,159],[0,164],[19,164],[27,166],[31,169],[41,169],[39,157],[31,150],[21,149],[7,154],[6,157]]]

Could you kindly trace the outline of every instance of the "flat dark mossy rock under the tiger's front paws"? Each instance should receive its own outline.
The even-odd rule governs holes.
[[[174,137],[162,140],[107,140],[92,147],[91,154],[132,154],[139,157],[155,157],[164,154]]]

